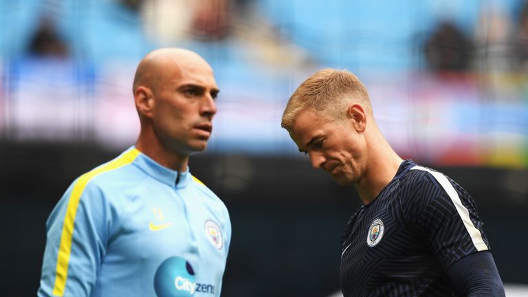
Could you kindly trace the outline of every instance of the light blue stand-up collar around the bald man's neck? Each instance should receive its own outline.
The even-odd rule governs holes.
[[[151,177],[154,177],[159,181],[162,181],[162,183],[167,184],[168,186],[184,188],[192,178],[189,172],[189,166],[187,166],[187,169],[180,173],[178,184],[176,184],[176,180],[178,178],[177,170],[172,170],[155,162],[153,159],[151,159],[151,157],[148,157],[144,153],[141,153],[141,151],[137,150],[135,146],[131,146],[131,148],[129,148],[127,151],[131,150],[140,152],[133,162],[135,166],[141,168],[145,173],[151,175]]]

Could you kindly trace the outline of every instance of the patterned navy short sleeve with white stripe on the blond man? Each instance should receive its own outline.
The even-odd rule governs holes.
[[[445,175],[419,168],[426,172],[414,173],[409,223],[444,270],[464,256],[489,250],[472,197]]]

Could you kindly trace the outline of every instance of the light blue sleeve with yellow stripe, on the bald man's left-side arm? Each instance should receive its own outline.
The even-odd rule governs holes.
[[[102,191],[82,177],[47,220],[38,296],[89,296],[105,253],[108,211]]]

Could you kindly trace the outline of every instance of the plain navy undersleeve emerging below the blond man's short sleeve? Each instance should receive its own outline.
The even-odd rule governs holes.
[[[447,274],[457,294],[504,297],[504,285],[491,252],[476,252],[456,261]]]

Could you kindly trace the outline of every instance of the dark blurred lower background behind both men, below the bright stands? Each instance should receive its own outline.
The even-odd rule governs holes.
[[[34,296],[45,221],[78,175],[120,151],[87,143],[0,143],[0,296]],[[428,164],[422,164],[427,166]],[[340,239],[360,200],[296,157],[193,155],[191,172],[230,210],[222,296],[328,296],[339,288]],[[528,170],[439,168],[472,194],[505,283],[528,283]],[[521,190],[518,190],[521,189]]]

